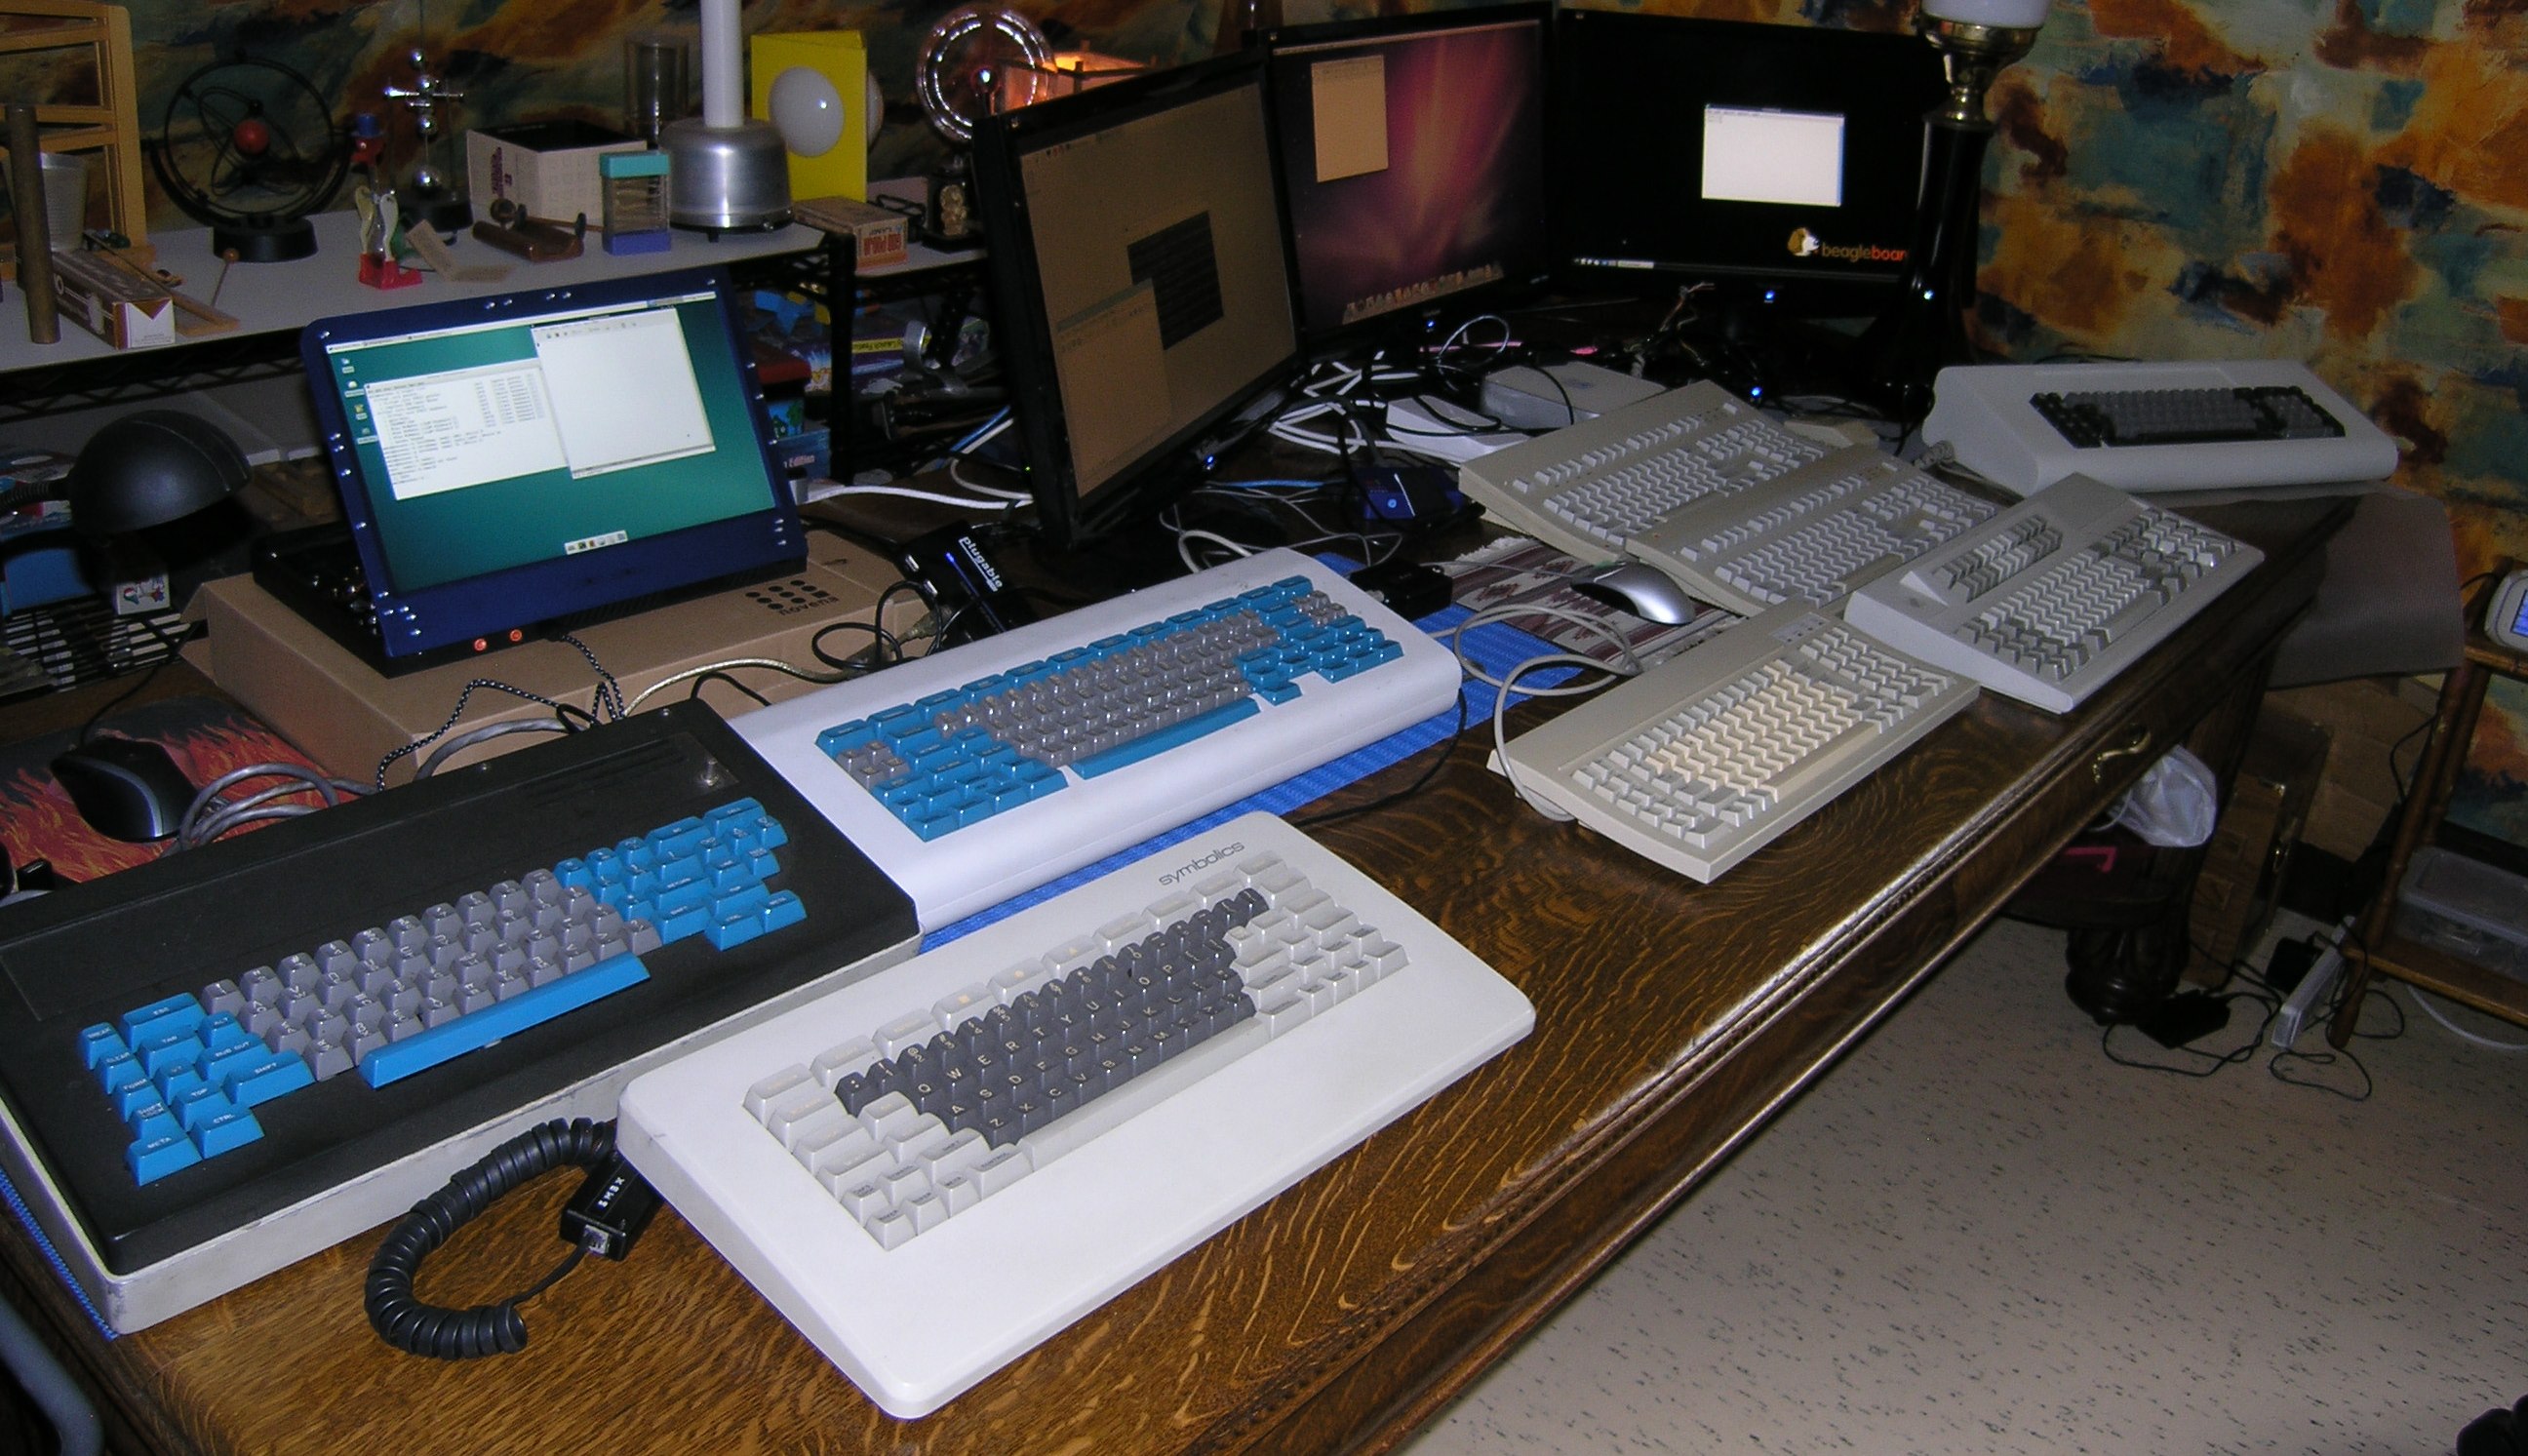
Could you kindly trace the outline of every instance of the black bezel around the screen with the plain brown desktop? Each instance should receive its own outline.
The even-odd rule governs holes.
[[[1272,389],[1287,382],[1299,367],[1299,329],[1292,316],[1292,349],[1261,367],[1254,379],[1231,389],[1224,399],[1170,432],[1140,460],[1110,475],[1090,493],[1079,495],[1072,470],[1069,422],[1062,407],[1062,379],[1054,369],[1052,318],[1044,308],[1044,278],[1036,268],[1034,222],[1019,185],[1021,157],[1092,131],[1122,126],[1143,116],[1206,101],[1236,91],[1256,88],[1264,96],[1264,58],[1239,51],[1211,61],[1173,66],[1122,81],[1107,81],[1072,96],[1057,96],[1034,106],[1021,106],[976,126],[973,134],[973,202],[983,230],[983,255],[988,260],[994,324],[999,329],[1001,374],[1009,384],[1011,430],[1019,437],[1021,473],[1036,503],[1036,533],[1049,549],[1074,549],[1087,541],[1112,536],[1148,521],[1168,500],[1201,483],[1208,470],[1211,440],[1221,425]],[[1267,149],[1272,147],[1272,111],[1264,109]],[[1279,182],[1279,179],[1277,179]],[[1274,212],[1282,212],[1279,195]],[[1282,283],[1289,296],[1289,240],[1282,238]]]

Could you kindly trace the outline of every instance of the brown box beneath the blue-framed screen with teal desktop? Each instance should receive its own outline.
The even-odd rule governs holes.
[[[817,632],[832,622],[867,622],[900,571],[872,551],[844,546],[832,536],[811,536],[822,561],[809,561],[791,576],[758,586],[736,586],[713,597],[678,602],[637,617],[581,627],[576,637],[622,685],[624,700],[678,672],[728,662],[733,657],[776,657],[822,670],[809,652]],[[263,718],[331,774],[369,784],[387,753],[410,746],[447,720],[465,682],[493,677],[528,693],[589,708],[597,680],[569,642],[526,642],[488,657],[468,657],[404,677],[382,677],[311,622],[265,594],[250,576],[225,576],[195,592],[187,609],[210,624],[210,634],[185,647],[185,660],[200,667],[230,698]],[[908,632],[923,614],[910,592],[897,592],[887,612],[890,632]],[[867,647],[867,632],[839,632],[827,650],[849,657]],[[769,700],[796,698],[814,685],[799,677],[741,670],[746,688]],[[683,685],[667,695],[683,698]],[[736,715],[756,703],[718,688],[703,700]],[[475,690],[458,733],[483,723],[544,718],[551,710],[508,693]],[[531,733],[508,733],[468,748],[447,766],[470,763],[533,743]],[[389,784],[412,779],[425,756],[404,753],[387,774]]]

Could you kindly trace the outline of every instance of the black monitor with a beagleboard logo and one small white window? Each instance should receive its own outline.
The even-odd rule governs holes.
[[[1562,10],[1562,258],[1577,278],[1873,313],[1904,273],[1924,114],[1944,94],[1914,35]]]

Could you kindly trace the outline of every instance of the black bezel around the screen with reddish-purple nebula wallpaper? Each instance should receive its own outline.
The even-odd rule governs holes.
[[[1527,258],[1512,260],[1502,268],[1502,278],[1492,283],[1479,283],[1474,288],[1461,288],[1446,293],[1428,303],[1395,308],[1390,313],[1378,313],[1370,318],[1358,318],[1352,324],[1310,326],[1307,321],[1307,281],[1302,276],[1302,250],[1297,238],[1297,217],[1292,212],[1292,177],[1289,157],[1282,147],[1282,111],[1292,104],[1279,86],[1274,86],[1272,61],[1284,51],[1302,46],[1342,46],[1360,40],[1388,40],[1401,35],[1426,35],[1443,30],[1476,30],[1486,25],[1537,25],[1537,157],[1545,167],[1545,190],[1540,192],[1540,217],[1537,233],[1532,235],[1534,250]],[[1282,245],[1289,255],[1292,270],[1292,318],[1299,324],[1299,341],[1310,356],[1335,356],[1360,349],[1363,344],[1395,341],[1398,336],[1431,334],[1441,318],[1474,318],[1486,311],[1517,303],[1534,293],[1542,293],[1555,276],[1560,260],[1560,238],[1555,235],[1552,207],[1547,205],[1552,190],[1552,81],[1555,81],[1555,5],[1517,0],[1512,5],[1469,5],[1459,10],[1423,10],[1413,15],[1380,15],[1365,20],[1320,20],[1310,25],[1277,25],[1269,30],[1256,30],[1249,35],[1249,46],[1267,56],[1264,73],[1264,101],[1272,109],[1272,136],[1274,136],[1274,169],[1277,187],[1282,190]]]

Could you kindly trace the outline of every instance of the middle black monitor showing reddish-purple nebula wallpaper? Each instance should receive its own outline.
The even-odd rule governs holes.
[[[1466,318],[1537,283],[1547,5],[1264,35],[1312,349]]]

